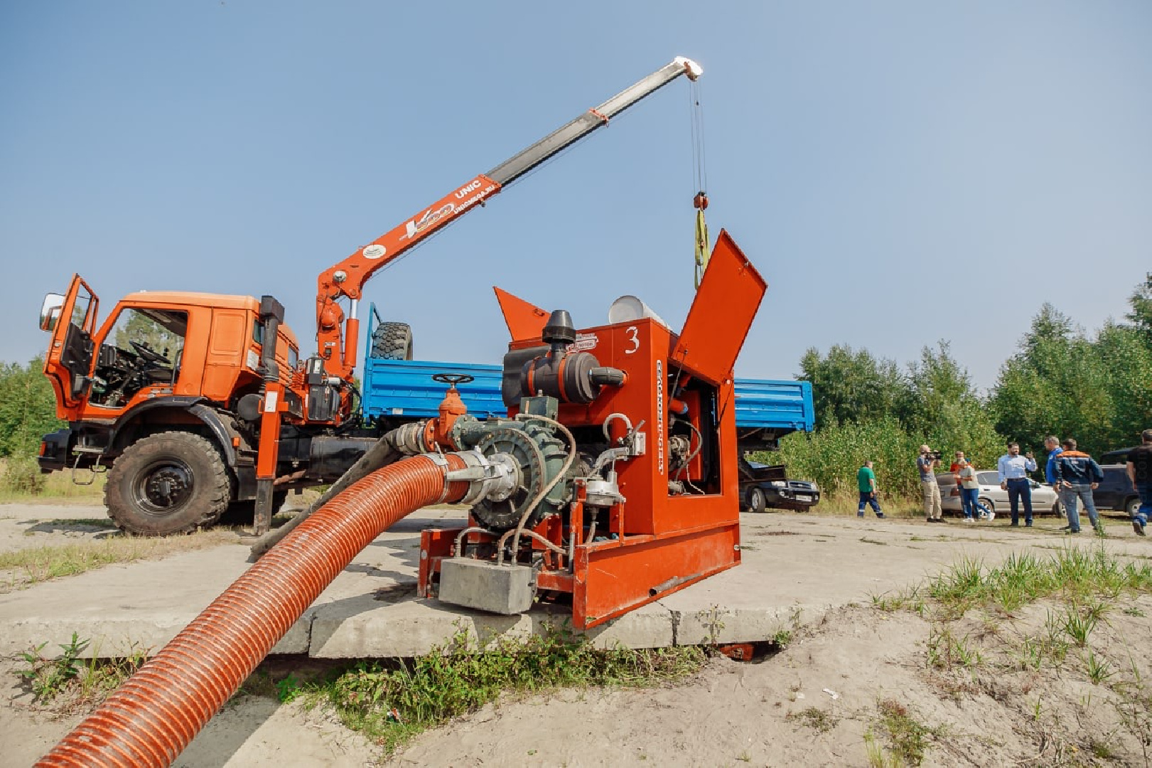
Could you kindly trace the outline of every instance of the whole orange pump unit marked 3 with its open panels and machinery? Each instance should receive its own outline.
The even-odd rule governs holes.
[[[577,331],[498,292],[510,417],[453,407],[400,430],[404,453],[475,454],[486,482],[468,527],[423,533],[419,594],[500,613],[570,603],[586,628],[736,565],[733,366],[765,289],[721,232],[679,336],[643,316]]]

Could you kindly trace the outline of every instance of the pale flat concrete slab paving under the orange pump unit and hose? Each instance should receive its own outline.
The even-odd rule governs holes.
[[[31,512],[28,512],[31,510]],[[54,511],[53,511],[54,512]],[[24,513],[36,513],[26,507]],[[35,519],[29,518],[30,522]],[[458,633],[477,641],[566,627],[567,613],[536,609],[497,616],[416,598],[419,530],[463,521],[456,510],[422,510],[359,552],[273,649],[323,658],[411,656]],[[660,647],[770,640],[828,610],[895,592],[961,558],[995,563],[1021,549],[1102,545],[1152,557],[1127,522],[1104,542],[1059,535],[1060,521],[1033,529],[929,526],[795,513],[745,514],[743,564],[590,631],[600,646]],[[1127,532],[1127,535],[1126,535]],[[158,650],[248,567],[248,548],[226,544],[164,560],[108,566],[0,594],[0,654],[73,632],[101,656]]]

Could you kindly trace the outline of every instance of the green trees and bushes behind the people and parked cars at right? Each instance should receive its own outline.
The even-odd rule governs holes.
[[[854,491],[856,469],[872,459],[882,489],[915,496],[922,443],[945,451],[946,466],[962,450],[982,469],[995,466],[1009,439],[1039,452],[1047,435],[1075,437],[1093,455],[1132,445],[1152,427],[1152,272],[1128,307],[1127,322],[1089,334],[1045,303],[987,393],[976,391],[947,341],[904,368],[867,349],[811,348],[796,378],[812,383],[816,430],[759,458],[833,494]]]

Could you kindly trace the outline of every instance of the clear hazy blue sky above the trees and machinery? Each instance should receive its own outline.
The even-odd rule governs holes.
[[[1045,301],[1087,330],[1152,270],[1152,3],[0,3],[0,360],[71,272],[260,295],[316,276],[676,55],[704,67],[713,235],[770,283],[737,364],[810,346],[982,387]],[[577,325],[692,295],[677,81],[367,285],[419,357],[498,362],[491,286]],[[366,308],[365,308],[366,311]]]

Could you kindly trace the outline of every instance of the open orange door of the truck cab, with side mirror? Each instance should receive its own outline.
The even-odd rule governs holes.
[[[78,274],[68,293],[50,293],[40,308],[40,330],[52,333],[44,356],[44,375],[56,391],[56,415],[81,405],[92,389],[92,334],[99,299]]]

